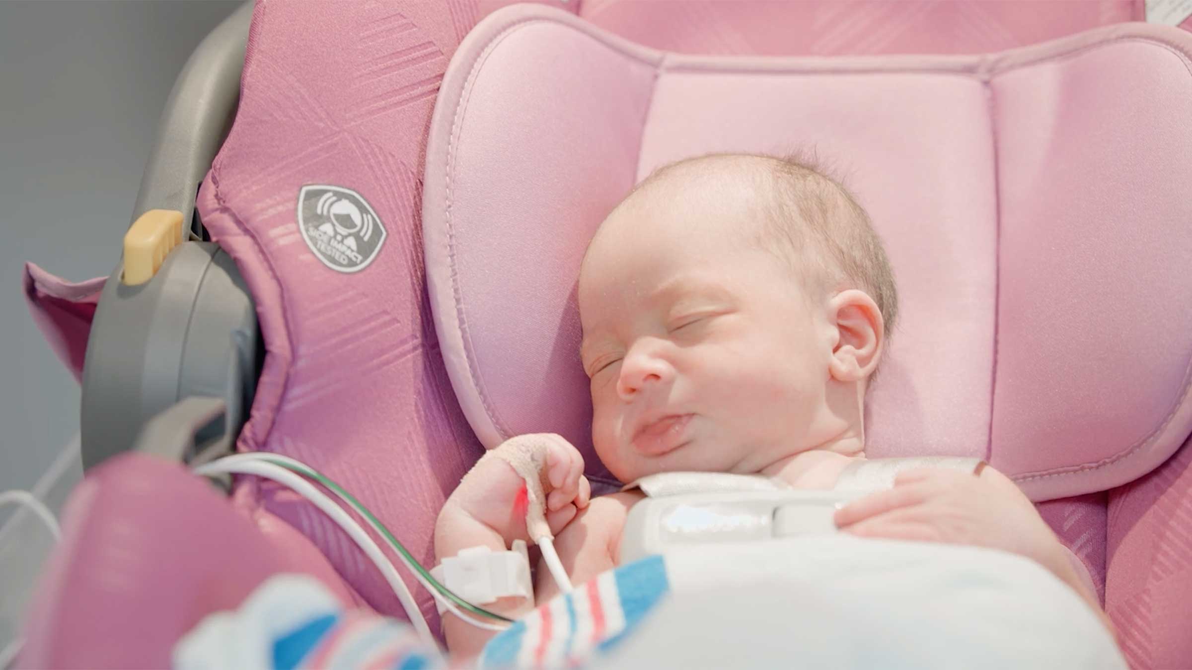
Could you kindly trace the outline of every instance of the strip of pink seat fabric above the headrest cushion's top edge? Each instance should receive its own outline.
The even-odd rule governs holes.
[[[645,46],[677,54],[840,56],[982,54],[1143,20],[1143,0],[712,0],[682,12],[650,0],[582,0],[579,15]],[[1187,21],[1192,26],[1192,20]]]

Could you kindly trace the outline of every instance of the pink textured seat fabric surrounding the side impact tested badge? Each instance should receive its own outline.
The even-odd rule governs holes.
[[[325,473],[424,565],[439,509],[483,453],[430,322],[417,206],[424,129],[474,21],[467,7],[259,1],[236,120],[197,205],[252,290],[265,340],[237,447]],[[312,185],[350,190],[371,209],[384,238],[367,267],[337,272],[306,242],[296,218]],[[375,567],[311,505],[252,479],[236,498],[291,523],[370,606],[402,615]],[[432,597],[410,582],[437,629]]]

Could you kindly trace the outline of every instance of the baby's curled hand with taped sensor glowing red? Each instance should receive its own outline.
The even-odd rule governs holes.
[[[583,476],[584,459],[579,451],[559,435],[542,433],[511,438],[485,454],[448,498],[440,517],[465,514],[498,533],[507,545],[529,540],[526,514],[535,494],[510,461],[536,471],[552,534],[558,534],[588,507],[591,486]]]

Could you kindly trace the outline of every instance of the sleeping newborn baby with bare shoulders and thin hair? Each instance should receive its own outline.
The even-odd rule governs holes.
[[[581,358],[592,440],[621,482],[671,471],[765,474],[830,489],[864,458],[865,391],[898,312],[869,217],[836,181],[793,160],[690,159],[656,172],[601,224],[579,272]],[[498,447],[498,449],[502,447]],[[619,563],[634,491],[589,501],[579,452],[563,440],[544,467],[547,522],[575,584]],[[526,539],[523,480],[484,459],[439,515],[439,560]],[[980,545],[1041,563],[1101,613],[1050,528],[992,467],[901,474],[836,523],[862,536]],[[485,608],[516,618],[557,593]],[[491,633],[445,615],[453,653]],[[1110,626],[1112,631],[1112,627]]]

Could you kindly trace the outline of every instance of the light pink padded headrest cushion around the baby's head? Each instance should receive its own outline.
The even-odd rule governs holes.
[[[988,459],[1033,500],[1099,491],[1192,430],[1192,36],[1125,24],[986,56],[646,49],[509,7],[461,43],[427,149],[432,309],[485,446],[591,451],[576,275],[656,167],[814,147],[901,299],[868,454]]]

